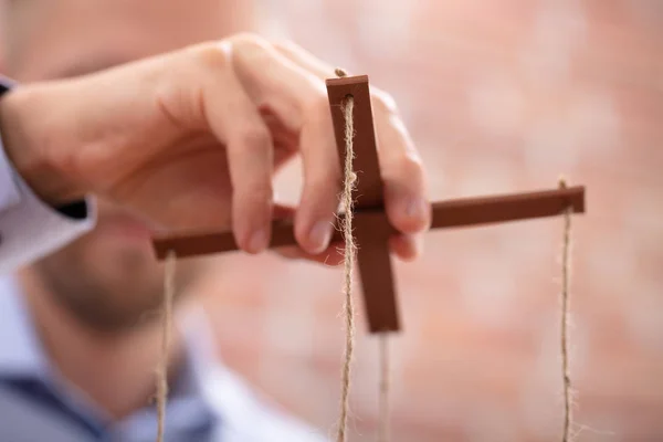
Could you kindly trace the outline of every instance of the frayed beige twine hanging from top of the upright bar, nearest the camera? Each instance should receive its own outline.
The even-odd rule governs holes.
[[[336,74],[339,77],[344,77],[347,74],[340,70],[336,70]],[[338,432],[336,435],[337,442],[345,442],[347,421],[348,421],[348,402],[349,402],[349,390],[350,390],[350,367],[352,362],[352,350],[355,341],[355,307],[352,305],[352,271],[355,267],[355,255],[356,244],[352,236],[352,190],[357,176],[352,170],[352,159],[355,156],[352,140],[355,136],[355,126],[352,118],[352,110],[355,107],[355,101],[351,96],[348,96],[343,105],[341,110],[345,117],[345,181],[343,192],[343,206],[345,208],[345,220],[343,222],[343,231],[345,238],[345,261],[344,261],[344,295],[345,295],[345,316],[346,316],[346,348],[345,348],[345,360],[341,370],[341,391],[340,391],[340,418],[338,424]]]

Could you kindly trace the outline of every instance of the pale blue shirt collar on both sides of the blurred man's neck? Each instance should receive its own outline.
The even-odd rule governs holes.
[[[45,380],[54,376],[54,370],[21,292],[14,277],[0,277],[0,378],[34,377]],[[178,317],[177,324],[185,338],[185,360],[180,376],[171,387],[167,424],[175,428],[209,427],[221,418],[221,410],[210,397],[207,383],[223,369],[201,308],[191,308]],[[135,432],[154,431],[145,422],[155,419],[155,409],[150,407],[139,410],[120,427],[130,427]]]

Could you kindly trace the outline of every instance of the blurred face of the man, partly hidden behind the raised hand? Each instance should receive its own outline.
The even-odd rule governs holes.
[[[223,38],[250,30],[249,3],[12,2],[8,13],[8,73],[21,82],[66,77]],[[149,322],[156,317],[162,297],[164,266],[154,257],[149,229],[107,201],[98,201],[98,223],[93,232],[34,269],[54,301],[85,324],[106,332]],[[198,265],[196,261],[180,261],[178,272],[177,281],[186,284],[198,273]]]

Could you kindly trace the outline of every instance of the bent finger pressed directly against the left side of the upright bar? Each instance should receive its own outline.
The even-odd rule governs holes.
[[[325,83],[264,41],[239,38],[235,44],[235,72],[248,93],[299,136],[304,188],[295,215],[295,238],[306,252],[320,253],[332,238],[340,189]]]

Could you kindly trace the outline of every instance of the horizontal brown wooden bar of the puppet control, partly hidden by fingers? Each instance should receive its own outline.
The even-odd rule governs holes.
[[[536,192],[511,193],[503,196],[460,198],[439,201],[432,204],[432,229],[462,228],[501,223],[534,218],[555,217],[567,208],[573,213],[585,212],[585,187],[554,189]],[[343,218],[340,215],[339,218]],[[396,233],[385,215],[383,208],[362,208],[355,213],[357,222],[371,222],[376,231],[383,234]],[[335,230],[333,242],[343,241],[341,232]],[[358,239],[359,245],[361,239]],[[196,256],[238,250],[232,232],[178,234],[155,238],[152,241],[158,259],[165,259],[168,251],[178,257]],[[291,220],[272,223],[271,248],[295,245],[296,240]]]

